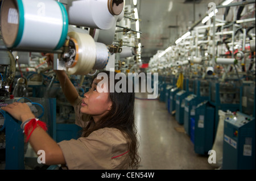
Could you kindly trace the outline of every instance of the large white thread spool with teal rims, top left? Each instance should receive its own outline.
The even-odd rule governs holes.
[[[2,2],[1,29],[7,48],[56,50],[65,43],[68,15],[52,0],[7,0]]]

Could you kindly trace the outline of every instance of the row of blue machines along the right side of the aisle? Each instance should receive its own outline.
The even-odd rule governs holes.
[[[255,169],[255,82],[184,78],[180,89],[176,80],[159,78],[159,100],[184,126],[195,153],[208,155],[222,140],[222,169]],[[223,119],[220,111],[229,113]]]

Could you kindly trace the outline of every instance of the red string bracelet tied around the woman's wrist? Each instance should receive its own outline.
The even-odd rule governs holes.
[[[36,127],[40,126],[41,128],[43,128],[44,131],[47,131],[47,125],[46,123],[44,123],[43,121],[40,121],[39,119],[31,119],[30,121],[28,121],[28,123],[24,126],[24,134],[27,136],[26,142],[28,142],[31,133],[35,130]],[[30,131],[32,128],[32,131],[30,132],[30,134],[28,135],[28,131]]]

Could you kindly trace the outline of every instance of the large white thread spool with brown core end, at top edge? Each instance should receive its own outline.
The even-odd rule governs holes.
[[[123,0],[80,0],[67,5],[69,24],[109,30],[121,14]]]

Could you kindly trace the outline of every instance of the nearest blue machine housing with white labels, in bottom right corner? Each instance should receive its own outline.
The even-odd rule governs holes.
[[[255,118],[237,112],[224,122],[222,169],[255,170]]]

